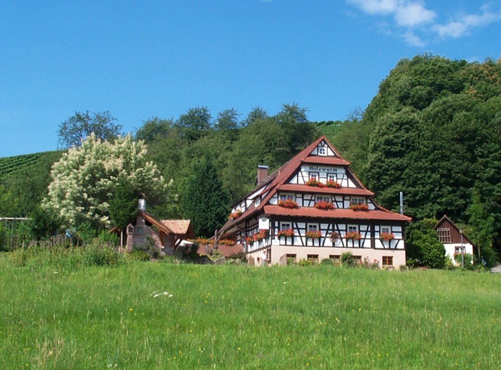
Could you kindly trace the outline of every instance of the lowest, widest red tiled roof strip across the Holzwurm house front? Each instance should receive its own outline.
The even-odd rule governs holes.
[[[354,211],[352,209],[323,210],[313,207],[284,208],[277,205],[265,206],[265,213],[277,216],[303,216],[317,218],[352,218],[360,220],[411,221],[411,218],[395,212],[370,210]]]

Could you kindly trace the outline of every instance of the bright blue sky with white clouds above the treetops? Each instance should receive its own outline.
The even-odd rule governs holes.
[[[55,150],[76,111],[126,132],[195,106],[342,120],[402,58],[497,60],[501,0],[5,1],[0,35],[5,157]]]

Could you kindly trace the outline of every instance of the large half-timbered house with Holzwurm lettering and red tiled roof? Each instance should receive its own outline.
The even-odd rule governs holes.
[[[382,267],[405,264],[403,232],[411,219],[373,196],[322,136],[271,175],[259,166],[256,189],[233,206],[220,231],[250,256],[265,250],[271,263],[336,260],[349,251]]]

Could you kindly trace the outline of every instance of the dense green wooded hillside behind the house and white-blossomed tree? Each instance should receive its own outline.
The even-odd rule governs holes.
[[[415,220],[447,214],[475,240],[501,237],[501,60],[403,59],[364,111],[328,122],[310,122],[307,113],[294,103],[275,114],[256,107],[246,117],[234,109],[213,116],[194,107],[177,119],[147,119],[133,136],[169,182],[149,210],[191,218],[208,234],[254,188],[258,165],[274,171],[325,134],[381,205],[397,210],[403,191]],[[40,204],[60,156],[0,159],[0,217],[28,216]],[[219,215],[210,221],[191,196],[209,185]]]

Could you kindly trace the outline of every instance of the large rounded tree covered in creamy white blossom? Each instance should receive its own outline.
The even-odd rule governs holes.
[[[110,143],[91,134],[54,163],[51,176],[42,207],[53,210],[67,226],[84,222],[96,228],[109,226],[109,201],[119,182],[148,197],[167,190],[156,165],[146,160],[144,142],[133,141],[130,135]]]

